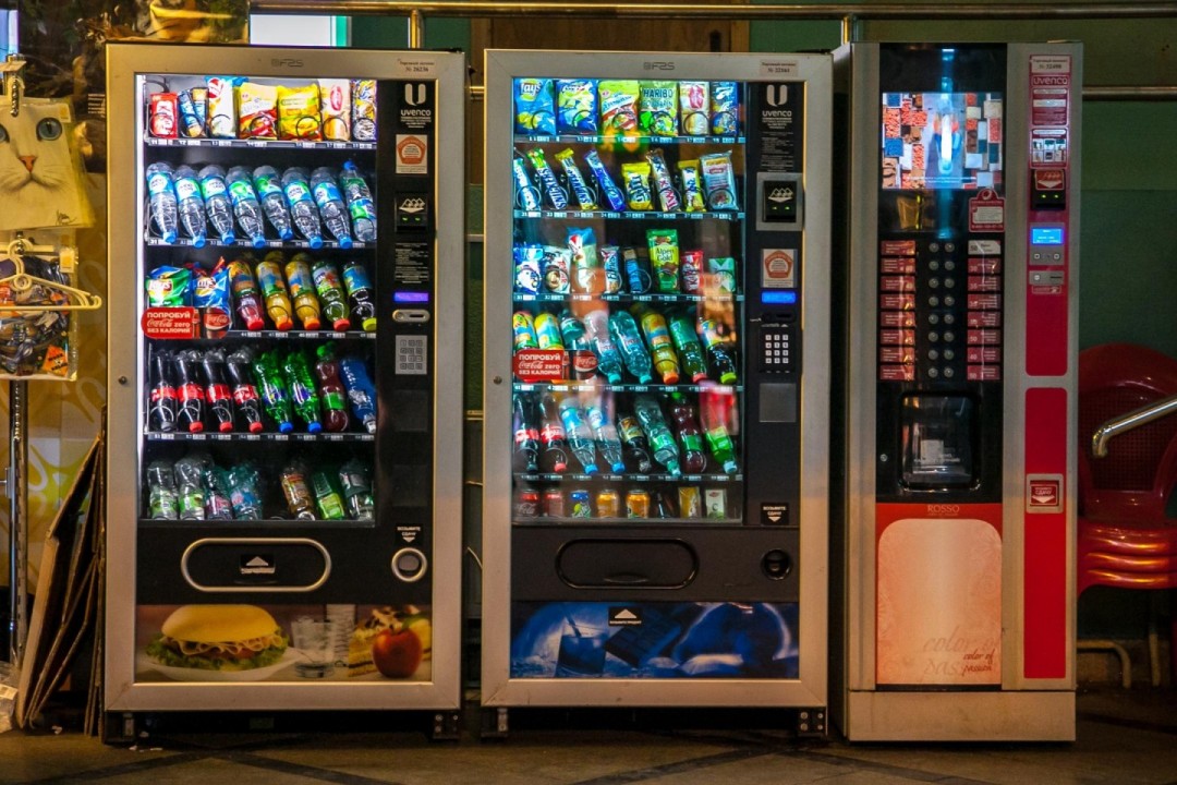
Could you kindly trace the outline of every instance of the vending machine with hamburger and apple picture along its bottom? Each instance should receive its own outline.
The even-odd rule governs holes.
[[[107,47],[108,736],[460,706],[461,54]]]

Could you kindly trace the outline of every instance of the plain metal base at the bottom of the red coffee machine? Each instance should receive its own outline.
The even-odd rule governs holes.
[[[851,741],[1073,741],[1073,692],[851,692]]]

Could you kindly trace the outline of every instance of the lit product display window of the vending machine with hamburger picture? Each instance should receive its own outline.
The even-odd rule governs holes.
[[[374,520],[375,82],[281,81],[142,82],[141,525]]]

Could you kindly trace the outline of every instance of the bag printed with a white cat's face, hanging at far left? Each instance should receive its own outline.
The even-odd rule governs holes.
[[[0,97],[0,231],[92,226],[69,102]]]

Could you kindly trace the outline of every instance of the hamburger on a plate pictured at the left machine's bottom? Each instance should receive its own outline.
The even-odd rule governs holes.
[[[250,671],[275,664],[290,640],[257,605],[181,605],[147,644],[160,665],[204,671]]]

